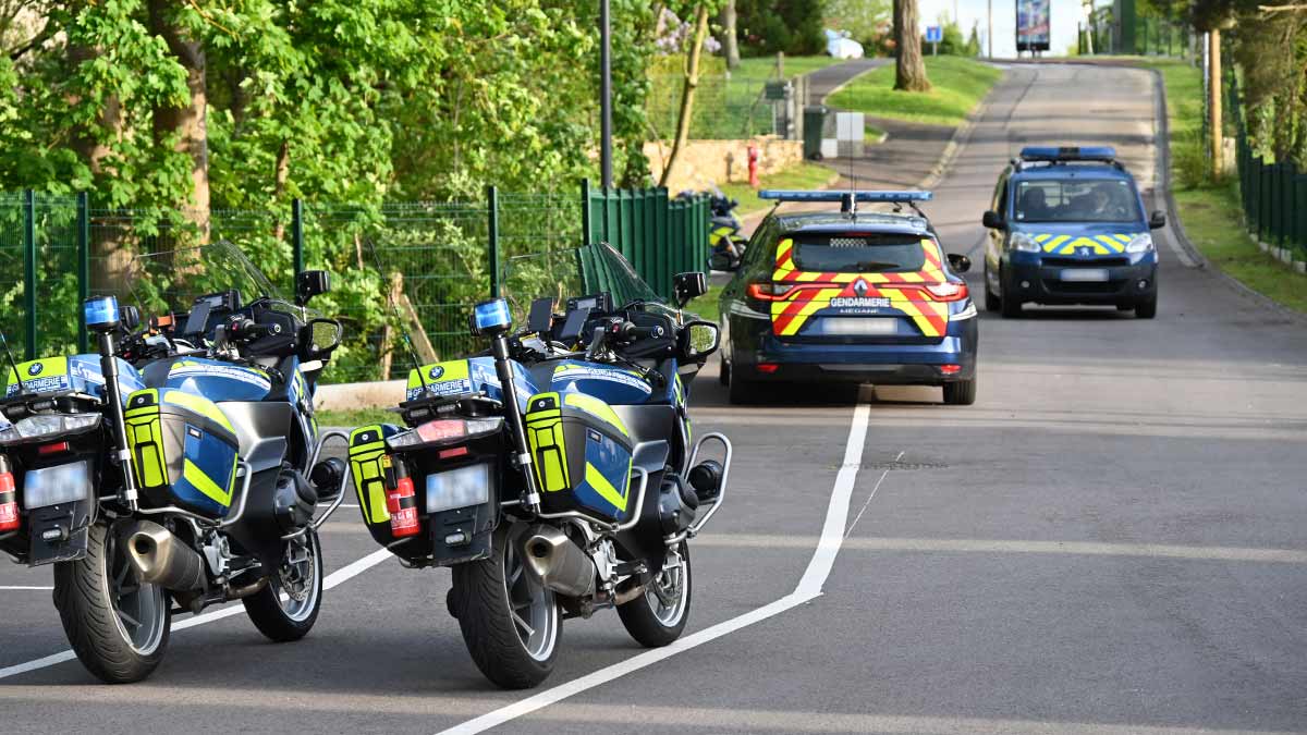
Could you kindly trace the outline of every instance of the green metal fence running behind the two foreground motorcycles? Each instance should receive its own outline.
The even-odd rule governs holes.
[[[305,203],[277,211],[93,209],[88,196],[0,192],[0,330],[16,356],[88,349],[81,301],[132,293],[132,254],[163,252],[226,239],[238,245],[285,293],[295,272],[322,268],[333,289],[314,307],[340,318],[346,341],[331,382],[376,381],[408,369],[412,335],[420,360],[478,349],[467,314],[503,292],[523,256],[609,241],[664,296],[672,275],[704,269],[704,197],[669,200],[667,190],[518,194],[489,188],[482,201],[395,203],[380,207]],[[565,290],[538,271],[519,285],[528,299]],[[520,306],[520,305],[519,305]]]

